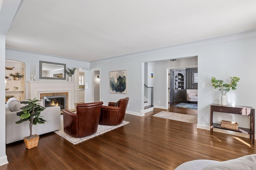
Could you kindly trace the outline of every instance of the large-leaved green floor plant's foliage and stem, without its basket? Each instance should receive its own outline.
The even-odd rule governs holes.
[[[36,125],[37,123],[42,124],[46,120],[40,116],[41,111],[43,111],[44,108],[43,106],[40,106],[39,104],[36,104],[36,102],[39,102],[40,100],[36,100],[34,98],[33,100],[28,99],[27,101],[22,101],[20,103],[26,104],[26,106],[21,107],[22,111],[17,112],[17,116],[20,116],[20,120],[16,121],[16,124],[20,124],[24,121],[30,121],[29,123],[29,129],[30,129],[30,136],[29,138],[32,137],[32,125]]]

